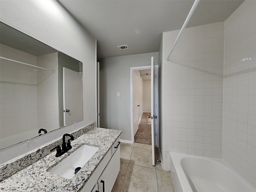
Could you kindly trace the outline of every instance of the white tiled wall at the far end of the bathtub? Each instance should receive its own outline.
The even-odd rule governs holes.
[[[163,33],[162,158],[169,152],[222,157],[224,22]]]

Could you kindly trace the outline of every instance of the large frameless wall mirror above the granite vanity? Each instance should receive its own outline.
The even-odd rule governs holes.
[[[83,120],[82,62],[0,22],[0,110],[0,149]]]

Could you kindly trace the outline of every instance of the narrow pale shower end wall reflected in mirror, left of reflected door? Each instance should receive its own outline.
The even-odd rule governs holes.
[[[56,72],[37,71],[37,128],[48,132],[60,127],[58,103],[58,52],[37,57],[37,66]]]

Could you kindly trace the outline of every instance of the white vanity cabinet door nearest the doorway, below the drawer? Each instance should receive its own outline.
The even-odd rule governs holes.
[[[99,192],[111,192],[120,171],[120,146],[112,156],[98,180]]]

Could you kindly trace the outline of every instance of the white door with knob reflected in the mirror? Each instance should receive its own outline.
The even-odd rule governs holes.
[[[82,73],[63,68],[64,126],[83,120]]]

